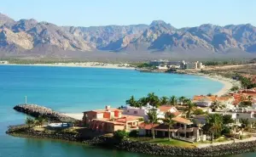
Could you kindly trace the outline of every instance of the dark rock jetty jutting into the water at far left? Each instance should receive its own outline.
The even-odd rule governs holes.
[[[78,121],[67,115],[62,115],[52,109],[40,106],[38,104],[19,104],[14,107],[18,112],[24,113],[26,115],[31,115],[33,117],[43,116],[49,121],[54,122],[75,122]]]

